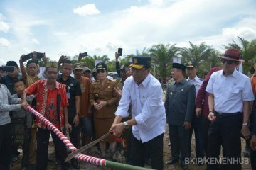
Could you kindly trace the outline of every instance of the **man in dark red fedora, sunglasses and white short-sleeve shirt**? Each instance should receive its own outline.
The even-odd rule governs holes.
[[[240,52],[228,49],[220,55],[223,70],[214,72],[206,91],[209,115],[212,121],[208,132],[209,160],[218,160],[220,146],[223,147],[223,169],[241,169],[240,134],[248,140],[250,131],[247,126],[250,116],[250,101],[254,100],[249,77],[238,72],[236,68],[241,60]],[[218,162],[208,162],[208,169],[218,169]]]

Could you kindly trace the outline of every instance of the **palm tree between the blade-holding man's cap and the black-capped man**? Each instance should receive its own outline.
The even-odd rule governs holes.
[[[171,70],[173,57],[178,56],[178,47],[174,45],[153,45],[149,50],[149,55],[152,57],[152,64],[156,67],[161,79],[168,76]]]

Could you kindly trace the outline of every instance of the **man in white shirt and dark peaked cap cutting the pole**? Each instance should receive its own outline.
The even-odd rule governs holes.
[[[150,62],[151,57],[132,58],[133,73],[124,81],[122,98],[110,132],[120,136],[124,128],[132,127],[132,164],[143,167],[148,153],[152,169],[163,169],[166,114],[161,84],[149,73]],[[129,116],[127,111],[131,102],[132,119],[121,123],[122,118]]]

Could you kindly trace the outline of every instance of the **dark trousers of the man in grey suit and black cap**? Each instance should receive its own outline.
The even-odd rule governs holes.
[[[189,154],[189,130],[185,130],[183,125],[169,124],[169,137],[171,142],[171,158],[175,160],[180,158],[181,162],[183,162]]]

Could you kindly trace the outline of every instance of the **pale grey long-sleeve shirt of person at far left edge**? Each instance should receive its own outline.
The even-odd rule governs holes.
[[[0,125],[11,123],[9,111],[20,109],[21,105],[17,104],[19,101],[21,98],[14,98],[6,85],[0,84]]]

